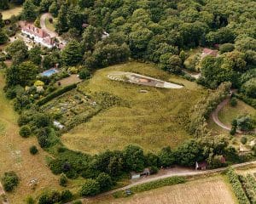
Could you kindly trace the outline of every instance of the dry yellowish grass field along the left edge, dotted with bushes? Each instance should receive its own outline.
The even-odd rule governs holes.
[[[0,175],[7,171],[15,171],[18,174],[20,184],[8,197],[10,203],[23,203],[26,195],[38,195],[41,190],[49,187],[58,188],[58,178],[46,167],[44,158],[47,153],[44,150],[39,150],[37,156],[29,153],[30,146],[38,144],[37,139],[20,137],[16,124],[17,114],[12,103],[5,99],[3,86],[3,71],[0,71]],[[29,186],[32,178],[38,179],[36,190]]]

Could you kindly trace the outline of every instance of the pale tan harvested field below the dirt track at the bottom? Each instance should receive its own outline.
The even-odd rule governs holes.
[[[236,197],[230,184],[221,176],[201,178],[185,184],[177,184],[150,190],[122,199],[114,199],[109,196],[96,201],[84,201],[84,204],[235,204]]]

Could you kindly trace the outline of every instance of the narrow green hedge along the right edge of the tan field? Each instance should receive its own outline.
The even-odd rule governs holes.
[[[226,175],[229,178],[229,182],[232,185],[232,188],[235,192],[235,195],[240,204],[250,204],[250,201],[247,198],[247,195],[242,189],[241,183],[239,181],[238,175],[235,173],[234,169],[230,168]]]

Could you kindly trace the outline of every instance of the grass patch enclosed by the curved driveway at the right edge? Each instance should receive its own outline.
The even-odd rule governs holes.
[[[232,107],[230,103],[224,106],[224,108],[218,112],[218,118],[225,125],[231,124],[231,122],[236,119],[237,116],[242,116],[246,114],[254,115],[256,114],[256,110],[241,100],[237,100],[237,105]]]

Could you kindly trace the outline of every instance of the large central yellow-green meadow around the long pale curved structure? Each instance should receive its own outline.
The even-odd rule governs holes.
[[[138,86],[108,79],[110,71],[131,71],[166,82],[183,83],[184,88],[167,89]],[[148,93],[140,93],[140,90]],[[194,82],[174,77],[154,65],[131,62],[96,71],[89,82],[79,84],[79,92],[90,95],[109,93],[123,100],[101,111],[89,122],[74,127],[62,136],[62,142],[73,150],[96,153],[120,150],[127,144],[139,144],[144,150],[176,147],[191,136],[184,124],[188,112],[205,90]],[[95,98],[96,101],[97,97]]]

